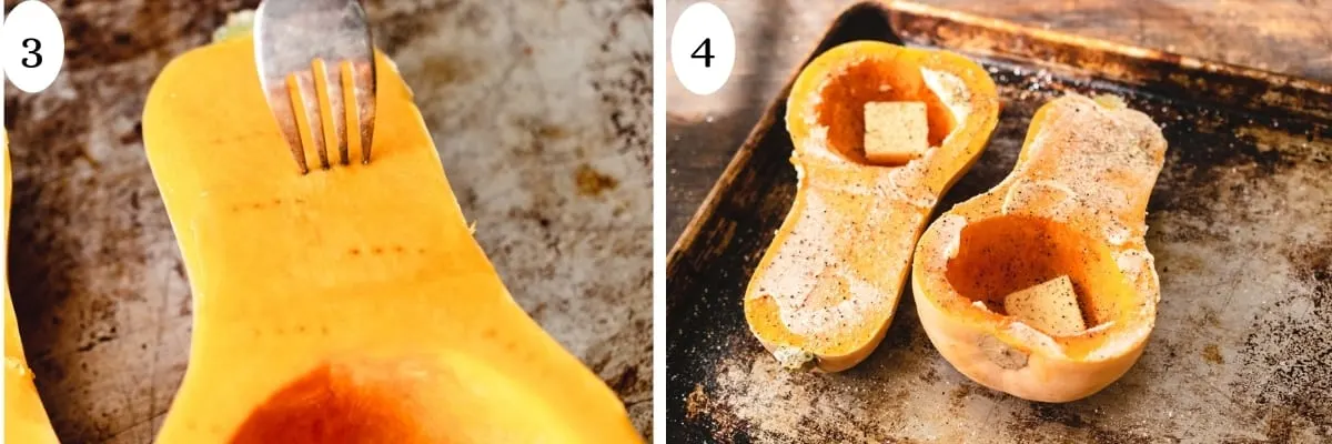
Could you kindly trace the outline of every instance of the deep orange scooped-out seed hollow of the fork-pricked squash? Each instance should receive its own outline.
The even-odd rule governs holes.
[[[233,444],[421,443],[416,415],[396,391],[321,365],[250,412]]]

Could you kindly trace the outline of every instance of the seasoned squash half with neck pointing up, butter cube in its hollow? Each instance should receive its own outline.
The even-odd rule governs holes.
[[[1164,159],[1160,128],[1118,99],[1043,105],[1012,173],[920,237],[911,281],[939,353],[1035,401],[1082,399],[1123,376],[1160,300],[1143,236]]]

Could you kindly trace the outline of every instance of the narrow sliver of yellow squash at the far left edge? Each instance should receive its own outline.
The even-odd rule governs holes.
[[[3,132],[3,129],[0,129]],[[56,431],[51,428],[51,417],[37,396],[37,385],[32,381],[28,359],[23,353],[23,339],[19,337],[19,319],[13,313],[13,300],[9,297],[9,135],[0,139],[0,163],[4,163],[4,205],[0,205],[0,287],[4,288],[4,441],[56,444]]]

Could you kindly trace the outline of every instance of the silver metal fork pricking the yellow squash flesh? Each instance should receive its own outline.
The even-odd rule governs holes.
[[[358,0],[265,0],[254,17],[254,60],[268,107],[301,175],[310,169],[302,147],[318,155],[320,168],[332,168],[321,112],[333,123],[337,161],[350,164],[348,121],[354,119],[361,163],[370,163],[374,44]],[[348,113],[348,103],[356,115]]]

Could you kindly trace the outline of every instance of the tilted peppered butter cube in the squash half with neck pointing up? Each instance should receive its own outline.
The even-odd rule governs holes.
[[[1059,276],[1008,295],[1003,300],[1008,316],[1020,319],[1047,335],[1072,336],[1087,329],[1078,295],[1068,276]]]

